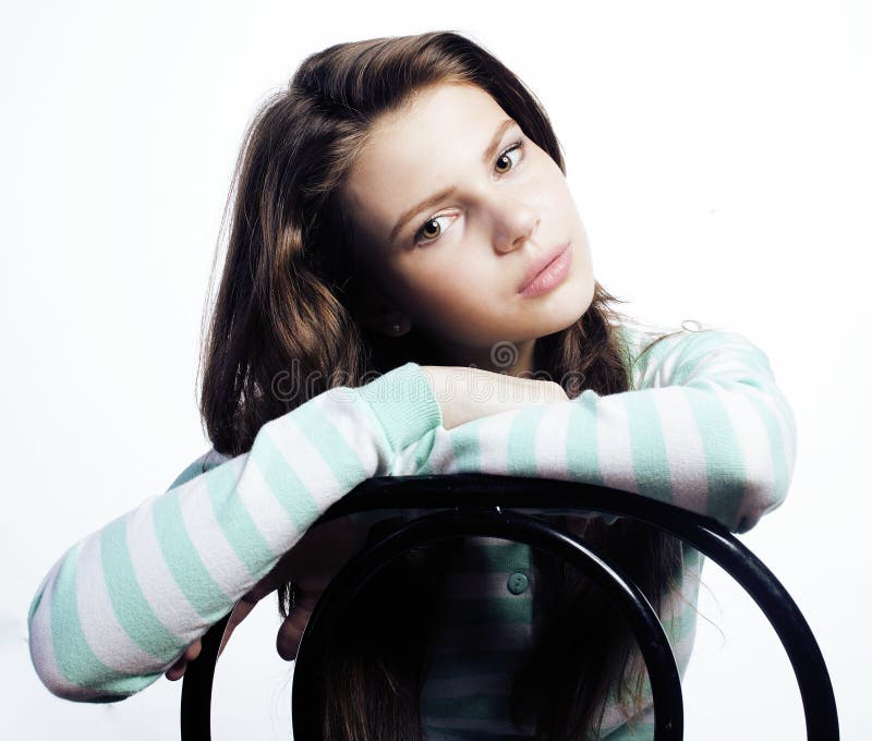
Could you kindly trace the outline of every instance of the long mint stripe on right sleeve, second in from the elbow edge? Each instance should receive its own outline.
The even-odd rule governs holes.
[[[681,389],[700,430],[707,477],[705,513],[732,529],[744,496],[748,473],[732,424],[717,397],[693,387]]]

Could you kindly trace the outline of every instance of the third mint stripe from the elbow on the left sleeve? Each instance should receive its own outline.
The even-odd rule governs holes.
[[[213,469],[206,476],[214,475]],[[164,561],[191,606],[209,623],[217,622],[231,607],[230,598],[206,571],[182,520],[175,494],[155,499],[154,529]]]

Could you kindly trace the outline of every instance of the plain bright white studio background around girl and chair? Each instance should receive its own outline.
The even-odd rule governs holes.
[[[26,611],[73,542],[208,448],[201,317],[258,104],[339,41],[456,29],[545,105],[597,279],[643,321],[740,331],[799,428],[785,505],[741,539],[820,642],[864,736],[872,15],[862,0],[5,3],[0,23],[3,738],[169,739],[181,683],[114,705],[39,683]],[[707,562],[686,738],[800,739],[792,671]],[[287,738],[272,599],[219,663],[215,738]],[[271,736],[270,736],[271,734]]]

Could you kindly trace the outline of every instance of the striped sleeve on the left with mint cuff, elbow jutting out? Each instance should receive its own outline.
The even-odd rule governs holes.
[[[83,702],[148,687],[330,505],[388,473],[399,450],[441,422],[426,376],[408,363],[268,422],[250,452],[205,473],[209,458],[201,457],[167,493],[70,547],[46,574],[28,611],[40,680]]]

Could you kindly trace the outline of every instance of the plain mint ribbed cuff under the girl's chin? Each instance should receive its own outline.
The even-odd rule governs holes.
[[[370,404],[395,451],[443,424],[443,413],[426,374],[407,363],[354,389]]]

